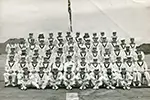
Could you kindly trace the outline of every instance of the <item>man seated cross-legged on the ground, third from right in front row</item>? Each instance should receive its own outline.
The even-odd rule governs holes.
[[[93,89],[99,89],[99,87],[103,85],[104,77],[102,75],[102,72],[99,70],[99,68],[94,69],[90,73],[90,77],[91,77],[92,85],[94,86]]]

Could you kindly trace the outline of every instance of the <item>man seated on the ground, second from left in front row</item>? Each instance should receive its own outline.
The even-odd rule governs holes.
[[[40,89],[45,89],[48,85],[49,77],[47,73],[44,71],[44,67],[39,67],[39,72],[37,74],[37,83]]]

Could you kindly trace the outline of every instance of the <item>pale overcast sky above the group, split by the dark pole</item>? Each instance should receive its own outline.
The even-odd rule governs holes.
[[[135,2],[136,1],[136,2]],[[150,42],[149,0],[71,0],[74,32],[101,32]],[[68,31],[67,0],[0,0],[0,42],[29,32]]]

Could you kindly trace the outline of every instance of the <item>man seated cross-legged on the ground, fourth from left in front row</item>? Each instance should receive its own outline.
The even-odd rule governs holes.
[[[72,86],[75,85],[75,73],[72,71],[72,66],[67,66],[66,71],[64,72],[64,78],[63,78],[64,85],[66,86],[66,89],[71,90]]]

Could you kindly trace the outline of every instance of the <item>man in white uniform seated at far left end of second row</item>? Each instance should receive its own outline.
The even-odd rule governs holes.
[[[6,60],[4,73],[5,86],[16,85],[17,70],[17,61],[14,60],[13,55],[9,55],[9,58]]]

